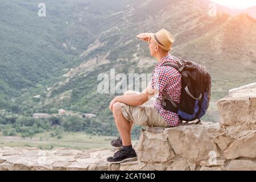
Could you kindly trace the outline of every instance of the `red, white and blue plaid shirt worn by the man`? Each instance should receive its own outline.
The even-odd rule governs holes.
[[[159,100],[163,100],[163,91],[165,90],[168,96],[177,103],[180,103],[181,96],[181,74],[175,68],[163,66],[166,62],[176,63],[172,55],[166,55],[156,64],[154,73],[151,78],[152,89],[159,90]],[[178,126],[180,119],[176,113],[165,110],[164,107],[158,103],[154,103],[155,108],[159,114],[164,118],[166,123],[170,126]]]

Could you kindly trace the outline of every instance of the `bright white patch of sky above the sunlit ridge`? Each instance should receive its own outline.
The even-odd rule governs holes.
[[[222,6],[229,7],[230,9],[247,9],[251,6],[256,6],[256,0],[211,0]]]

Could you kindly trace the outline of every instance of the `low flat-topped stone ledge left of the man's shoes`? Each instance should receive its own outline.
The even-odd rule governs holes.
[[[0,148],[1,170],[110,170],[106,158],[113,151],[97,149],[79,151],[68,148]]]

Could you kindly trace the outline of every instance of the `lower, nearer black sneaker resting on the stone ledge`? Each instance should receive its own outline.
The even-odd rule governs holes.
[[[131,162],[137,159],[137,154],[134,149],[131,152],[128,152],[120,148],[119,151],[115,152],[114,156],[107,158],[107,161],[110,163],[123,163]]]

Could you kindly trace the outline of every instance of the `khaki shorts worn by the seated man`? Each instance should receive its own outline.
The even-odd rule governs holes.
[[[130,94],[139,94],[139,92],[129,91]],[[123,117],[127,121],[131,121],[139,126],[150,127],[166,127],[166,121],[158,113],[158,110],[152,105],[155,102],[155,98],[147,101],[141,106],[130,106],[121,103]]]

